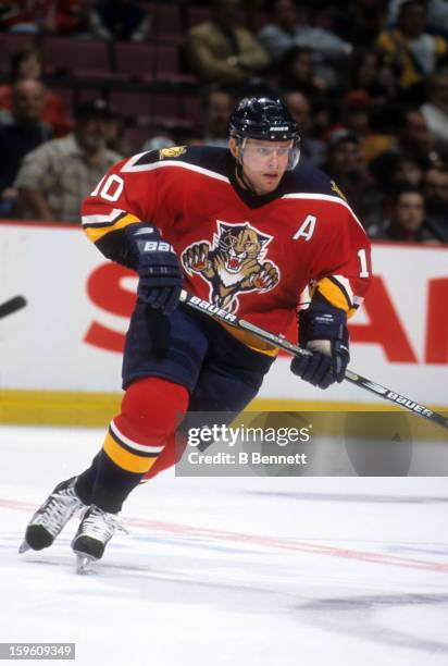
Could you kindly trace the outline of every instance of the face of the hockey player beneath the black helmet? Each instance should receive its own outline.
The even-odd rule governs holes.
[[[278,186],[286,171],[291,141],[247,139],[242,148],[242,172],[259,195]]]

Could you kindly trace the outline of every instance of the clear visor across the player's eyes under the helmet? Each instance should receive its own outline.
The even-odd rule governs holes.
[[[290,141],[262,141],[244,138],[238,143],[238,159],[241,165],[249,166],[256,172],[290,171],[300,157],[299,146]]]

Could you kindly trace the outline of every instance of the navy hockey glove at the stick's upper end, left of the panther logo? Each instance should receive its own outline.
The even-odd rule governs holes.
[[[137,271],[137,299],[172,314],[178,304],[183,276],[176,252],[159,230],[142,222],[125,230],[127,257]]]

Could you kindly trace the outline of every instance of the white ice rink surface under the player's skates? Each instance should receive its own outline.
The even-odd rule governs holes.
[[[17,554],[100,430],[0,428],[0,642],[74,642],[79,666],[446,666],[448,479],[175,478],[137,489],[86,576]]]

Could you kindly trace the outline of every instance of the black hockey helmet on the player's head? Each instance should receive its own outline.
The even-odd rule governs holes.
[[[229,134],[237,140],[240,160],[246,139],[254,138],[264,141],[290,140],[288,169],[294,169],[299,161],[300,136],[297,123],[281,99],[270,97],[241,99],[231,115]]]

